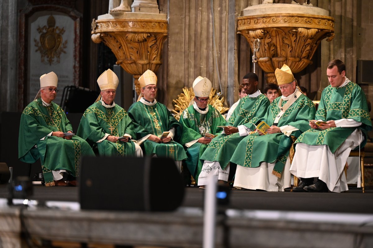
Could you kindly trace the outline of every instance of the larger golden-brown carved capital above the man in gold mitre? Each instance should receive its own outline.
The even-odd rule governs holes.
[[[263,6],[258,9],[264,11]],[[311,10],[317,12],[317,9]],[[325,38],[327,41],[333,39],[334,19],[310,13],[262,13],[239,17],[237,31],[247,39],[252,52],[254,40],[260,40],[260,50],[256,53],[258,64],[267,73],[267,82],[276,83],[273,72],[283,64],[297,73],[312,63],[311,58],[320,42]]]

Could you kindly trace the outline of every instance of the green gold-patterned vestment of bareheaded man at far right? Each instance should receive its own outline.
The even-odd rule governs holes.
[[[352,119],[361,122],[359,128],[365,136],[366,131],[372,130],[372,121],[370,120],[365,94],[360,86],[351,81],[340,88],[329,85],[323,90],[315,119],[323,121]],[[356,127],[331,127],[325,130],[310,129],[301,134],[295,143],[326,144],[330,151],[334,153],[355,129]],[[364,139],[361,147],[365,145],[366,140]]]

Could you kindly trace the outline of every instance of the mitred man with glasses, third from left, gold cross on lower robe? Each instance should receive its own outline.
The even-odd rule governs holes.
[[[175,161],[186,159],[184,147],[176,142],[181,135],[181,123],[172,116],[165,105],[155,99],[156,74],[151,70],[145,71],[139,78],[139,83],[139,100],[128,109],[128,115],[137,133],[137,144],[142,146],[144,155],[167,157]],[[181,163],[177,166],[181,170]]]

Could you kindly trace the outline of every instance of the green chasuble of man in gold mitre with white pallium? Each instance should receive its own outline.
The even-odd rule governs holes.
[[[296,95],[294,95],[296,96]],[[273,100],[268,108],[264,121],[268,125],[273,125],[276,116],[280,113],[278,107],[281,96]],[[287,101],[282,101],[284,106]],[[290,125],[298,128],[291,136],[298,137],[301,132],[310,128],[308,120],[313,120],[316,109],[313,102],[307,96],[301,94],[298,99],[289,106],[278,122],[278,127]],[[289,149],[292,144],[291,137],[283,133],[259,135],[258,133],[246,136],[237,146],[231,162],[245,167],[258,167],[261,162],[276,163],[272,174],[281,178]]]

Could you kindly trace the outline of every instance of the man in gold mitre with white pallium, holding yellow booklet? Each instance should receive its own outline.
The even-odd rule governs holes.
[[[273,100],[261,119],[270,126],[268,133],[257,131],[245,137],[231,158],[237,164],[236,188],[284,191],[290,187],[291,136],[308,130],[308,120],[314,117],[313,102],[298,88],[290,68],[284,64],[275,74],[282,96]]]

